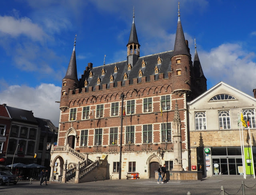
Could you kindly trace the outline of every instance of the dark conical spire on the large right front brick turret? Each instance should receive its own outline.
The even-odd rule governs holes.
[[[188,47],[186,45],[182,25],[180,22],[180,3],[178,4],[178,24],[177,24],[177,30],[176,30],[174,52],[173,52],[173,56],[177,56],[177,55],[190,56],[190,53],[188,52]]]

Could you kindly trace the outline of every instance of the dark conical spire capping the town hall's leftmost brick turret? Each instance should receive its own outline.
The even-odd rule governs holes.
[[[68,70],[66,72],[66,75],[63,79],[72,79],[78,81],[77,78],[77,70],[76,70],[76,51],[75,51],[75,46],[76,46],[76,37],[74,41],[74,49],[68,64]]]

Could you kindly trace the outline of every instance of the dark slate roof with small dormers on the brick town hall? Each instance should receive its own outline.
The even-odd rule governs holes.
[[[142,77],[146,77],[146,81],[150,80],[151,75],[155,75],[154,69],[157,65],[159,68],[159,73],[164,73],[164,78],[168,78],[167,72],[171,71],[171,61],[173,51],[162,52],[159,54],[153,54],[149,56],[143,56],[138,59],[136,64],[128,71],[127,61],[122,61],[118,63],[108,64],[104,66],[98,66],[92,68],[91,71],[93,73],[92,78],[89,77],[90,70],[86,72],[86,74],[80,80],[80,88],[84,88],[85,79],[88,81],[88,87],[96,86],[98,77],[101,79],[100,86],[102,84],[107,84],[107,88],[110,86],[110,76],[114,76],[114,86],[117,86],[118,81],[122,81],[122,85],[125,84],[124,81],[124,73],[128,75],[128,79],[130,80],[130,84],[133,84],[133,79],[138,78],[138,83],[140,83],[141,78],[139,78],[139,70],[142,70]],[[161,58],[162,63],[157,64],[158,56]],[[142,68],[142,60],[146,62],[146,67]],[[115,66],[118,68],[118,72],[114,73]],[[102,68],[105,70],[104,76],[102,76]],[[156,80],[158,80],[158,74],[156,75]]]

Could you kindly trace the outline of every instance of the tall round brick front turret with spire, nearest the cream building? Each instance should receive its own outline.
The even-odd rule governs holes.
[[[188,41],[185,40],[180,22],[180,5],[178,5],[178,24],[174,44],[172,62],[172,90],[174,94],[190,94],[192,68],[191,55],[188,48]]]

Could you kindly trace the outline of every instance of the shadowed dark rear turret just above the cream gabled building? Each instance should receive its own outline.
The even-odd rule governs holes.
[[[195,76],[195,84],[196,89],[198,90],[198,96],[202,93],[206,92],[207,90],[207,84],[206,84],[206,78],[204,76],[204,72],[202,70],[202,66],[196,51],[196,38],[195,41],[195,56],[194,56],[194,76]]]

